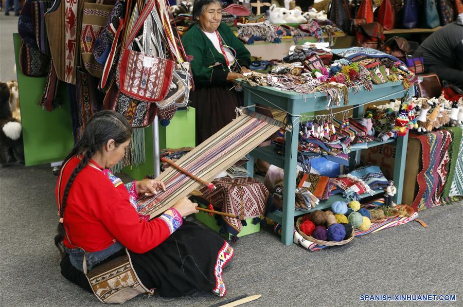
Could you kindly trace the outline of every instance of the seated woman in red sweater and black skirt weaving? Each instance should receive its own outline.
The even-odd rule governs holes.
[[[56,196],[60,223],[55,245],[61,274],[91,291],[83,273],[126,254],[139,281],[161,296],[212,291],[224,296],[223,266],[233,249],[216,233],[184,221],[198,212],[184,197],[158,218],[137,213],[139,195],[165,189],[145,179],[124,185],[111,173],[129,146],[132,128],[112,111],[96,113],[61,168]]]

